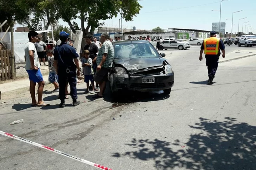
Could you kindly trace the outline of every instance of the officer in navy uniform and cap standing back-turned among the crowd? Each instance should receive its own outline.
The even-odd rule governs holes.
[[[54,63],[59,79],[59,98],[60,107],[65,107],[65,86],[68,79],[70,85],[70,96],[73,100],[73,106],[77,106],[80,102],[77,101],[76,89],[76,69],[77,75],[80,75],[80,67],[78,63],[79,55],[73,46],[67,44],[69,34],[60,32],[59,39],[61,44],[54,49]]]

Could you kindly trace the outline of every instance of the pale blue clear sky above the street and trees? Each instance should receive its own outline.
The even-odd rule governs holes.
[[[239,19],[241,19],[239,32],[242,31],[242,25],[243,32],[245,32],[245,25],[249,29],[254,28],[252,32],[256,32],[256,0],[244,0],[244,2],[246,3],[241,0],[222,2],[221,22],[226,22],[226,32],[231,32],[232,13],[236,11],[240,12],[233,14],[232,32],[237,33]],[[139,3],[143,6],[140,14],[134,17],[133,21],[123,20],[123,28],[132,29],[135,26],[136,29],[146,30],[161,27],[162,29],[185,28],[211,31],[212,22],[219,22],[220,0],[140,0]],[[121,15],[105,20],[105,26],[119,28],[120,18]],[[81,25],[81,20],[73,21]],[[59,20],[59,24],[68,26],[68,23],[62,20]]]

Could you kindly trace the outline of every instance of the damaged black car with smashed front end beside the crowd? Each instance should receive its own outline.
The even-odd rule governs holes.
[[[109,72],[114,95],[121,90],[171,93],[174,73],[171,65],[146,40],[114,41],[114,65]]]

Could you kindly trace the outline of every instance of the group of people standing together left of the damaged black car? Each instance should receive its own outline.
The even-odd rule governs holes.
[[[79,55],[73,47],[73,40],[69,40],[69,34],[60,32],[59,40],[54,44],[53,41],[43,42],[38,38],[38,33],[30,31],[28,33],[29,42],[25,47],[25,69],[30,79],[30,94],[32,106],[50,106],[42,100],[45,82],[40,71],[41,60],[45,64],[45,56],[48,56],[49,63],[49,82],[55,89],[52,92],[59,93],[59,107],[65,107],[65,99],[72,98],[73,106],[80,104],[77,101],[77,79],[80,75]],[[83,48],[80,61],[82,62],[84,81],[86,89],[84,93],[94,94],[93,98],[102,98],[108,72],[113,65],[114,47],[112,40],[107,33],[101,35],[101,42],[88,35],[85,36],[86,45]],[[89,86],[89,83],[91,85]],[[96,83],[94,83],[96,82]],[[36,83],[38,83],[38,100],[35,97]],[[70,85],[70,94],[68,93],[68,83]]]

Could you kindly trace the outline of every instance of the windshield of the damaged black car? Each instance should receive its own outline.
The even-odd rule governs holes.
[[[134,58],[159,57],[151,43],[125,43],[116,44],[114,59],[130,60]]]

